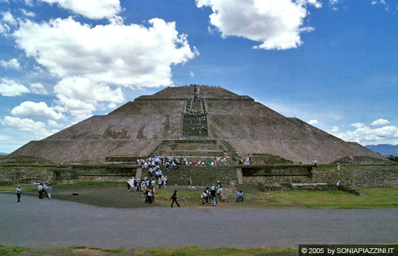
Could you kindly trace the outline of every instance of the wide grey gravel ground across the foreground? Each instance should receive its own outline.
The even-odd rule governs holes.
[[[398,208],[365,210],[104,208],[0,193],[0,244],[297,247],[398,242]]]

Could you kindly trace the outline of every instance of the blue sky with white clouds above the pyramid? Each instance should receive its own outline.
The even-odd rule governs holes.
[[[398,144],[393,0],[0,0],[0,152],[167,86]]]

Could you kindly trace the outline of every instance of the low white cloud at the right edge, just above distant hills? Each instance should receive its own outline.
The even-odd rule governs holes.
[[[398,127],[384,126],[372,129],[367,126],[357,127],[354,131],[347,131],[336,134],[337,137],[349,142],[358,142],[360,144],[397,144]]]

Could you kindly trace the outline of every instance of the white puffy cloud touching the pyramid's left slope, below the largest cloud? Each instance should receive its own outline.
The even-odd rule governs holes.
[[[54,87],[58,97],[58,110],[69,111],[77,119],[91,116],[98,102],[121,103],[124,101],[122,89],[112,90],[108,85],[92,82],[87,78],[65,78]]]

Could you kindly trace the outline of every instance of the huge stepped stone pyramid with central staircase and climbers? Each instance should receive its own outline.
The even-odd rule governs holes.
[[[355,142],[345,142],[298,118],[284,117],[252,97],[222,87],[167,87],[137,97],[40,141],[8,159],[50,163],[128,162],[146,156],[214,159],[252,156],[259,164],[330,163],[347,156],[383,159]],[[261,161],[263,159],[264,161]]]

